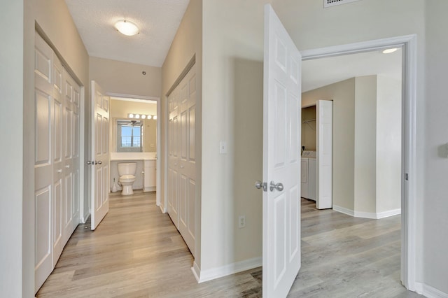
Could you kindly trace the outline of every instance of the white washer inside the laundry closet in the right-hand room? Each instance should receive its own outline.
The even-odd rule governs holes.
[[[300,197],[316,201],[316,151],[304,150],[301,162],[301,194]]]

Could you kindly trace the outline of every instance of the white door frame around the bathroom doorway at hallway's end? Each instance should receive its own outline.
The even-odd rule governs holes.
[[[122,93],[111,93],[105,91],[109,97],[118,97],[123,99],[142,99],[142,100],[152,100],[157,101],[157,137],[156,137],[156,144],[155,144],[155,154],[157,156],[157,159],[155,160],[155,169],[158,169],[155,174],[155,204],[162,208],[160,206],[160,148],[161,148],[161,138],[160,138],[160,122],[162,122],[161,116],[162,116],[162,110],[161,110],[161,104],[162,101],[160,100],[160,97],[146,97],[142,95],[131,95],[131,94],[122,94]],[[109,148],[111,150],[111,148]],[[110,170],[109,170],[110,171]]]

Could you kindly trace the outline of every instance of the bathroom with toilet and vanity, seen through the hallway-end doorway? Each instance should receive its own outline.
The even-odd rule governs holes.
[[[155,192],[158,140],[157,101],[111,97],[109,173],[111,192]],[[118,164],[130,172],[118,173]],[[123,168],[124,169],[124,168]],[[123,174],[132,176],[123,176]]]

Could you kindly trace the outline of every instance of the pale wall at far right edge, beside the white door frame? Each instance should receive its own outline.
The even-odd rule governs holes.
[[[423,143],[419,158],[419,201],[421,213],[417,225],[423,226],[422,234],[416,239],[423,246],[419,254],[423,269],[422,281],[430,287],[448,294],[448,159],[445,144],[448,141],[447,100],[447,48],[448,1],[426,1],[426,67],[421,69],[426,85],[425,97],[417,110],[417,126],[423,129],[417,142]],[[420,117],[424,115],[424,117]]]

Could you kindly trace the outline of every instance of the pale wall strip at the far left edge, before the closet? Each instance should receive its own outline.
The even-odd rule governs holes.
[[[0,292],[22,297],[23,1],[2,1],[0,10]],[[14,125],[11,125],[14,123]],[[34,248],[34,246],[33,246]]]

